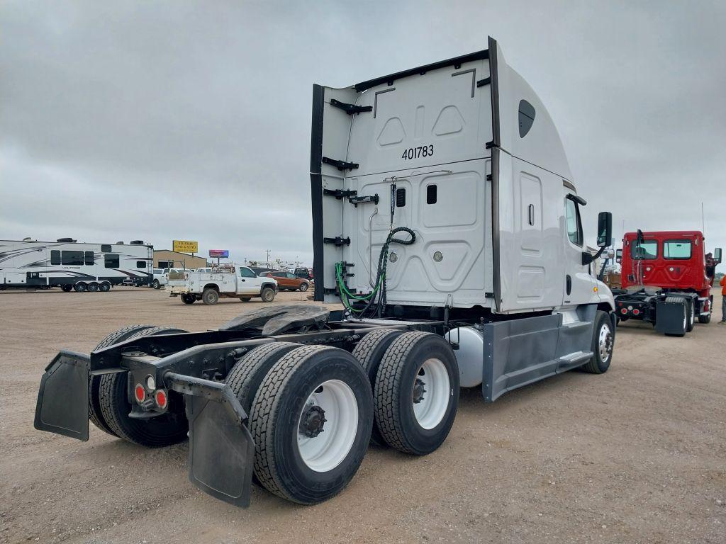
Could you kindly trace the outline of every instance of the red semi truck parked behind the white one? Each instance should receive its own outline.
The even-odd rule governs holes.
[[[706,252],[701,231],[628,232],[617,251],[622,289],[613,289],[620,321],[653,323],[669,336],[684,336],[711,321],[711,287],[721,248]]]

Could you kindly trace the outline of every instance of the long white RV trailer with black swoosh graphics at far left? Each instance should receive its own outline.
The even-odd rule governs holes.
[[[0,240],[0,289],[108,291],[113,285],[149,285],[153,247],[131,244]]]

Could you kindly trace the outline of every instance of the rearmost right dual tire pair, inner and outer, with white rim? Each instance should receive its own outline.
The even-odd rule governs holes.
[[[250,403],[248,428],[261,485],[301,504],[320,503],[348,485],[365,455],[373,419],[370,384],[350,353],[265,345],[242,358],[230,376],[227,383],[242,406]]]

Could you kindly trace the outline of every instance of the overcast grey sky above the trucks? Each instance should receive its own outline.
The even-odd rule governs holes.
[[[550,110],[579,193],[726,248],[726,2],[0,3],[0,238],[312,262],[311,87],[479,49]],[[720,268],[723,270],[726,265]]]

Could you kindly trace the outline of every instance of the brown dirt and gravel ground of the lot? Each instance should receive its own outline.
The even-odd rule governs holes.
[[[304,295],[276,303],[289,300]],[[41,374],[61,347],[87,353],[130,323],[211,329],[260,304],[187,306],[131,288],[1,292],[0,541],[726,542],[726,326],[715,319],[685,338],[625,323],[601,376],[572,371],[492,405],[463,390],[438,451],[371,447],[319,506],[257,487],[246,510],[221,503],[189,484],[187,444],[33,429]]]

